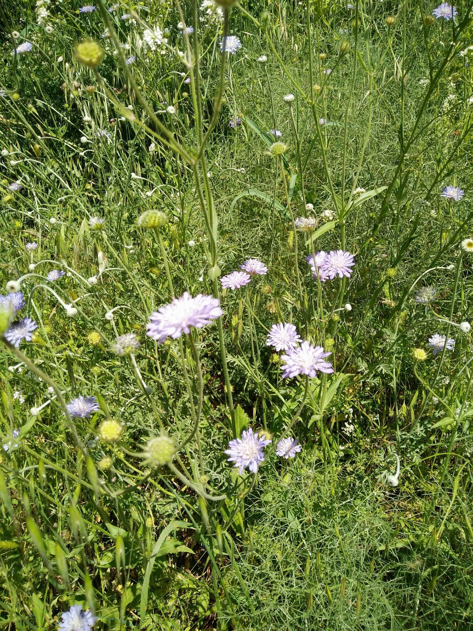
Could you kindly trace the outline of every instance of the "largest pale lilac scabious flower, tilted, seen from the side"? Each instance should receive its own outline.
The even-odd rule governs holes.
[[[190,333],[191,327],[201,329],[222,314],[218,298],[202,293],[192,298],[185,292],[180,298],[173,298],[171,304],[163,305],[151,314],[146,324],[146,335],[162,344],[168,337],[176,339],[183,333]]]

